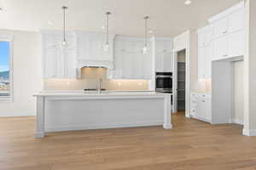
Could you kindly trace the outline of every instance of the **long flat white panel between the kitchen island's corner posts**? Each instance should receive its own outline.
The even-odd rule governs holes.
[[[164,96],[145,99],[142,96],[133,99],[46,99],[45,131],[162,126],[165,102]],[[169,110],[166,108],[167,112]]]

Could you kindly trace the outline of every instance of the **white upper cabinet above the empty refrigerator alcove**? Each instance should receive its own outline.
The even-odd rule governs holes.
[[[212,26],[213,60],[245,54],[245,20],[244,2],[236,4],[209,20]]]

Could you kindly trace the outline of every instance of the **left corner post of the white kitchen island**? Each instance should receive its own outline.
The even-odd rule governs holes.
[[[37,132],[36,138],[44,138],[44,96],[37,97]]]

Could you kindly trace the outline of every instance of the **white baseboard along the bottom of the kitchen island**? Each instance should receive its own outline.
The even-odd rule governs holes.
[[[45,127],[45,132],[65,132],[87,129],[104,129],[104,128],[119,128],[119,127],[150,127],[160,126],[164,122],[135,122],[135,123],[105,123],[84,126],[67,126],[67,127]]]

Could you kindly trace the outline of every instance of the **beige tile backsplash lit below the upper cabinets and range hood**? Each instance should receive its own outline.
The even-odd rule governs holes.
[[[106,75],[104,68],[83,68],[82,79],[44,79],[44,90],[97,88],[99,78],[108,90],[148,90],[148,80],[108,80]]]

